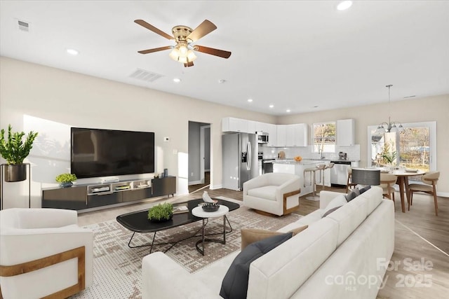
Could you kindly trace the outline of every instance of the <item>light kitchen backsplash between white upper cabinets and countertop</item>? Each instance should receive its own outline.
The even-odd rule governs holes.
[[[273,148],[268,146],[260,146],[259,151],[261,151],[264,155],[264,158],[278,158],[278,153],[283,151],[286,153],[286,159],[293,159],[293,157],[300,155],[303,159],[319,159],[319,153],[312,153],[311,146],[304,147],[292,147],[292,148]],[[347,160],[360,160],[360,144],[356,144],[354,146],[336,146],[335,153],[323,153],[324,158],[330,160],[338,160],[338,153],[342,151],[343,153],[347,153]]]

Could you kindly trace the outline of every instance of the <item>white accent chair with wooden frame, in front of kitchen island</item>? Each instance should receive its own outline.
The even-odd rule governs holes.
[[[243,183],[243,204],[255,209],[282,216],[299,205],[300,176],[295,174],[268,173]]]

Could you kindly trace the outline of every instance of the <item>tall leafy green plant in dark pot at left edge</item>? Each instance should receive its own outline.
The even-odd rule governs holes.
[[[0,131],[0,155],[6,160],[5,181],[25,181],[27,179],[27,165],[23,160],[29,155],[33,147],[37,132],[30,131],[25,138],[25,132],[12,132],[8,125],[8,138],[5,138],[5,130]]]

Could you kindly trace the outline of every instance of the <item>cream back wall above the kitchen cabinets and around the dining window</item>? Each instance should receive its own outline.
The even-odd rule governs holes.
[[[437,183],[438,195],[449,197],[449,95],[422,97],[419,99],[404,99],[391,104],[366,105],[348,107],[314,113],[296,114],[278,118],[279,124],[327,122],[354,118],[356,121],[356,144],[360,144],[361,167],[367,165],[368,126],[378,125],[391,120],[401,123],[420,123],[436,121],[436,167],[441,172]],[[311,134],[309,134],[309,144]]]

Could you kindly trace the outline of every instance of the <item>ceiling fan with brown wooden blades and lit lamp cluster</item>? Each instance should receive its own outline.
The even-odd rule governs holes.
[[[153,25],[148,24],[144,20],[134,20],[134,22],[142,27],[151,30],[156,34],[159,34],[160,36],[165,37],[166,39],[174,39],[176,42],[176,46],[165,46],[161,48],[141,50],[138,51],[138,53],[140,54],[148,54],[173,49],[170,52],[170,57],[173,60],[184,64],[184,67],[193,67],[194,60],[196,60],[196,55],[194,51],[199,51],[202,53],[215,55],[223,58],[229,58],[229,56],[231,56],[231,52],[225,50],[218,50],[214,48],[191,44],[201,39],[201,37],[206,36],[206,34],[210,34],[210,32],[213,32],[215,29],[217,29],[217,26],[215,26],[213,22],[210,22],[209,20],[204,20],[194,30],[192,30],[192,28],[187,26],[182,25],[175,26],[172,29],[173,36],[166,34],[165,32],[161,31],[160,29],[157,29]]]

